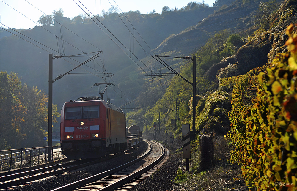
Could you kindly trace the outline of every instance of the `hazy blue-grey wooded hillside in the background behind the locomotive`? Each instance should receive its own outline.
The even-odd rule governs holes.
[[[22,83],[47,91],[46,74],[48,73],[49,52],[54,55],[68,56],[102,50],[103,53],[99,54],[100,58],[85,64],[87,67],[83,66],[83,70],[77,69],[76,72],[87,70],[92,73],[114,74],[109,80],[120,90],[118,88],[108,89],[108,96],[114,100],[132,100],[138,96],[144,83],[144,76],[139,75],[138,70],[147,72],[152,67],[149,63],[146,66],[146,61],[144,64],[139,61],[148,56],[142,47],[150,52],[150,47],[155,48],[170,34],[177,34],[192,26],[213,13],[213,10],[212,7],[202,7],[200,4],[196,7],[188,7],[185,4],[180,10],[171,10],[162,14],[146,15],[137,11],[129,11],[125,13],[125,16],[122,13],[119,15],[111,13],[97,23],[90,18],[86,18],[83,22],[73,19],[70,23],[63,23],[61,26],[35,26],[31,30],[8,30],[17,34],[18,37],[1,29],[1,70],[8,73],[15,72],[22,78]],[[125,17],[133,23],[133,26]],[[127,29],[125,25],[129,28]],[[73,57],[73,59],[66,57],[54,59],[54,78],[73,69],[74,65],[78,65],[78,62],[82,63],[88,57]],[[94,76],[65,76],[54,83],[54,103],[61,108],[62,103],[69,99],[77,99],[90,94],[95,96],[98,90],[90,87],[104,80]],[[132,86],[138,88],[132,89]],[[115,101],[117,105],[125,103],[125,101]]]

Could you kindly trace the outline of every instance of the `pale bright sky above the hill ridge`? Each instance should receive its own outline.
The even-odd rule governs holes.
[[[52,14],[54,10],[59,10],[59,8],[63,9],[65,17],[71,19],[84,14],[83,10],[77,5],[81,6],[80,2],[93,15],[98,15],[103,9],[107,11],[111,5],[118,5],[119,12],[121,12],[120,10],[122,12],[139,10],[142,14],[147,14],[154,9],[156,13],[161,13],[165,5],[170,9],[181,8],[191,1],[194,0],[0,0],[0,22],[3,24],[0,24],[0,26],[16,29],[33,28],[37,25],[36,23],[41,15],[44,15],[44,13]],[[202,0],[196,2],[202,2]],[[205,0],[205,4],[209,6],[212,6],[214,2],[215,0]]]

